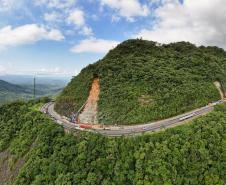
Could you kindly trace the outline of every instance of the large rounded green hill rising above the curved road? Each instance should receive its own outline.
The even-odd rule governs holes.
[[[63,115],[77,112],[96,77],[99,123],[144,123],[219,100],[213,82],[226,82],[226,52],[186,42],[158,46],[125,41],[72,79],[58,97],[56,110]]]

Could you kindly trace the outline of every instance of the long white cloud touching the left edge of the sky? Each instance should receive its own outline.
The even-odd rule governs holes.
[[[36,24],[27,24],[12,28],[6,26],[0,29],[0,48],[35,43],[40,40],[63,40],[59,30],[47,30]]]

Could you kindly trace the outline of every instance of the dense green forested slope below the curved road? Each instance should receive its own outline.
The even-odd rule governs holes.
[[[226,105],[137,137],[66,134],[36,104],[0,107],[0,185],[223,185]]]

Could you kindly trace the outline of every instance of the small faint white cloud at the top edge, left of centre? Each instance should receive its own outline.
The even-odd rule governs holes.
[[[45,5],[48,8],[67,9],[75,5],[75,0],[35,0],[37,6]]]

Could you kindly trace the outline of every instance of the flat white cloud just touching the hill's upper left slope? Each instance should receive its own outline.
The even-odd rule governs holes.
[[[71,51],[74,53],[107,53],[118,44],[119,42],[114,40],[103,40],[96,38],[85,39],[78,45],[72,47]]]

